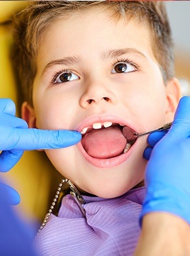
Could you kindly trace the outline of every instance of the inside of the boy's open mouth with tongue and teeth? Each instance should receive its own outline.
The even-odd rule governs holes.
[[[132,128],[111,121],[93,123],[81,133],[81,144],[85,152],[99,160],[126,154],[137,139],[136,131]]]

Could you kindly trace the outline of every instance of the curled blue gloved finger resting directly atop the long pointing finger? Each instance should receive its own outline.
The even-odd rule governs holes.
[[[0,125],[14,128],[28,128],[28,123],[19,117],[10,116],[10,114],[0,114]]]

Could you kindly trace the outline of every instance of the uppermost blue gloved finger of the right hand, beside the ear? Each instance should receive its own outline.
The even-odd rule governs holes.
[[[183,139],[190,136],[190,97],[184,96],[180,99],[172,127],[168,136],[173,139]]]

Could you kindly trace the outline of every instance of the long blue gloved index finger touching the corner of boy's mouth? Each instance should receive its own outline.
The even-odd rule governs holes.
[[[1,130],[5,128],[1,127]],[[6,143],[0,144],[0,150],[38,150],[65,148],[77,144],[81,133],[69,130],[40,130],[9,128],[1,131],[6,134]]]

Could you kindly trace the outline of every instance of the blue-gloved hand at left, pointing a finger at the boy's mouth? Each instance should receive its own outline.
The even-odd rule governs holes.
[[[0,99],[0,171],[9,171],[20,158],[24,150],[65,148],[81,140],[77,131],[48,131],[28,129],[28,124],[23,119],[15,117],[16,108],[12,100]],[[12,203],[20,201],[18,193],[5,184],[1,188],[9,190]]]

